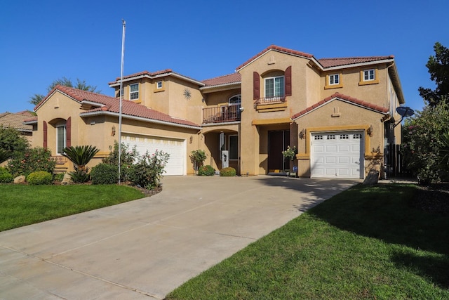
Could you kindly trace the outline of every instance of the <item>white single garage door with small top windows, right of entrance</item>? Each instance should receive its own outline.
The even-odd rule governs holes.
[[[312,133],[311,177],[363,178],[363,131]]]

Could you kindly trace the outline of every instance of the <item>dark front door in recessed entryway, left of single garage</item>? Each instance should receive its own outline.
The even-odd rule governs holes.
[[[268,131],[268,171],[276,172],[289,169],[290,162],[284,159],[282,151],[290,145],[290,131]]]

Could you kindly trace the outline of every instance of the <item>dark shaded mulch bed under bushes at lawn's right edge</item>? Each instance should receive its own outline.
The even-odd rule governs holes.
[[[433,214],[449,215],[449,183],[418,185],[410,205]]]

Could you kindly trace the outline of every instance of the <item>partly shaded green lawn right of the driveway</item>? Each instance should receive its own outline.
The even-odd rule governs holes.
[[[167,299],[449,299],[449,217],[414,185],[358,185],[175,289]]]

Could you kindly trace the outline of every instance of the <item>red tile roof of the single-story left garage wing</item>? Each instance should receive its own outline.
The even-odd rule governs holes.
[[[103,105],[102,107],[94,108],[93,110],[87,110],[86,112],[81,112],[81,116],[87,114],[88,112],[114,112],[119,113],[120,110],[120,101],[119,98],[114,98],[106,95],[102,95],[100,93],[92,93],[89,91],[81,91],[79,89],[69,88],[67,86],[55,86],[53,91],[58,90],[62,93],[67,94],[74,98],[74,100],[81,103],[84,100],[98,103],[98,105]],[[51,93],[53,93],[53,91]],[[51,95],[49,93],[49,95]],[[47,96],[48,97],[48,96]],[[46,98],[47,98],[46,97]],[[43,101],[46,100],[43,99]],[[41,103],[39,103],[41,105]],[[38,105],[38,106],[39,106]],[[170,115],[166,115],[163,112],[159,112],[157,110],[152,110],[151,108],[146,107],[145,105],[141,105],[138,103],[134,103],[129,100],[122,101],[122,116],[133,116],[133,117],[142,117],[144,119],[152,119],[162,122],[168,122],[173,124],[185,125],[185,126],[196,126],[199,127],[198,124],[194,124],[193,122],[187,121],[185,119],[177,119],[175,117],[171,117]]]

